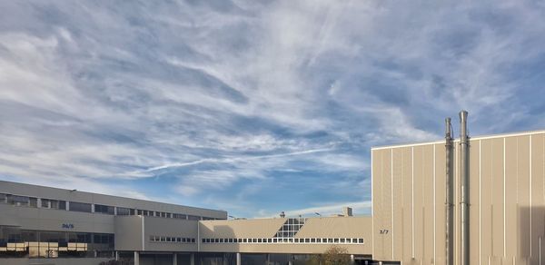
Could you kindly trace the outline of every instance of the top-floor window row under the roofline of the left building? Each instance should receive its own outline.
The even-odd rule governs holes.
[[[38,203],[39,201],[39,203]],[[68,203],[67,203],[68,202]],[[183,220],[215,220],[214,218],[188,215],[182,213],[171,213],[164,211],[148,211],[139,209],[130,209],[124,207],[114,207],[102,204],[92,204],[78,201],[58,201],[51,199],[39,199],[35,197],[19,196],[13,194],[0,193],[0,203],[7,203],[16,206],[56,209],[64,211],[96,212],[110,215],[143,215],[162,218],[174,218]]]

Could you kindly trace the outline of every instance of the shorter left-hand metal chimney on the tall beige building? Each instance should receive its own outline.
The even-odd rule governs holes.
[[[451,118],[445,119],[445,264],[454,264],[454,203],[453,187],[454,178],[452,177],[452,124]]]

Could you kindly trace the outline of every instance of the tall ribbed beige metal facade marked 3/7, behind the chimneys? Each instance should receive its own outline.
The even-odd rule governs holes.
[[[454,264],[460,263],[459,141]],[[545,132],[470,141],[471,264],[545,262]],[[445,142],[372,149],[373,260],[445,263]]]

